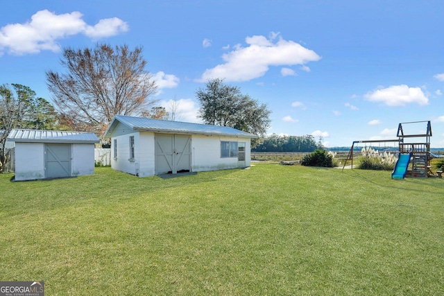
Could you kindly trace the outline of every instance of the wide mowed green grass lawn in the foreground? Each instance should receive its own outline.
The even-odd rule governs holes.
[[[443,295],[444,180],[258,164],[0,175],[0,280],[46,295]]]

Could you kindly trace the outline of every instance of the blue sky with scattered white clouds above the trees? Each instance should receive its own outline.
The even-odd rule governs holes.
[[[0,84],[51,100],[45,71],[64,71],[65,46],[143,46],[181,121],[198,122],[196,90],[218,77],[268,105],[270,134],[351,146],[432,121],[444,147],[443,15],[442,0],[5,1]]]

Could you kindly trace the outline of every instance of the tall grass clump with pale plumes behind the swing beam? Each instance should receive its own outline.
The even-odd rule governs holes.
[[[361,170],[379,170],[379,171],[393,171],[398,157],[393,153],[379,153],[373,148],[362,148],[362,157],[359,159],[358,168]]]

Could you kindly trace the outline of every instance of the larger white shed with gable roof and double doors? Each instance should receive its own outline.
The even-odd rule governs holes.
[[[114,170],[146,177],[250,166],[254,134],[225,126],[117,115],[105,132]]]

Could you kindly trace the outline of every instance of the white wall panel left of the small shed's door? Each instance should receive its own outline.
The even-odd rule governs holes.
[[[15,143],[15,180],[44,177],[44,143]]]

